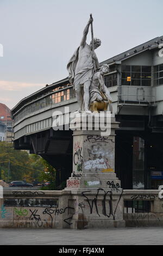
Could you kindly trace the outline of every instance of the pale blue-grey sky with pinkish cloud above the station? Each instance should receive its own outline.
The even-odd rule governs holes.
[[[162,0],[0,0],[0,102],[11,109],[67,77],[90,13],[99,62],[163,35]]]

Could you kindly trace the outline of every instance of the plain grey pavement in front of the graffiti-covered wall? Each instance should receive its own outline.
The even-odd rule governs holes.
[[[162,245],[163,228],[0,229],[0,245]]]

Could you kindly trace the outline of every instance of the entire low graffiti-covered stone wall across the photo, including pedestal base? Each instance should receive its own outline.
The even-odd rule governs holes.
[[[140,200],[151,202],[151,212],[124,211],[121,216],[124,201]],[[159,191],[4,190],[0,199],[1,228],[109,228],[124,227],[125,222],[126,227],[162,226]]]

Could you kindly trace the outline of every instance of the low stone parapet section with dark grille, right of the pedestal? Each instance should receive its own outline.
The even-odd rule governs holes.
[[[163,200],[158,190],[125,190],[123,201],[126,227],[163,225]]]

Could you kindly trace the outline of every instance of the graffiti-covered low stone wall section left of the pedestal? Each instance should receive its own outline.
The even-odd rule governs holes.
[[[67,191],[4,191],[0,227],[69,228],[69,196]]]

